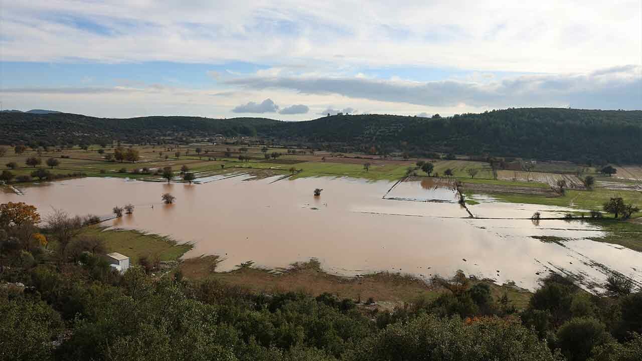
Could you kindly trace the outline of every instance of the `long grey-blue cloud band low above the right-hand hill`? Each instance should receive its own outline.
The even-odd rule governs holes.
[[[524,75],[500,82],[456,80],[411,82],[356,77],[249,77],[225,84],[248,89],[290,89],[302,94],[339,94],[349,98],[433,107],[563,107],[639,109],[642,66],[623,66],[591,73]],[[346,112],[348,109],[343,109]],[[326,109],[320,114],[336,113]]]

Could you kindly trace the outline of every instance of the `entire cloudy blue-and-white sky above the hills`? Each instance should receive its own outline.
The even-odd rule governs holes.
[[[642,109],[642,0],[0,0],[2,109]]]

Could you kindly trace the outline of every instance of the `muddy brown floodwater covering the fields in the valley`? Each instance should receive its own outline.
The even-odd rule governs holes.
[[[194,243],[186,257],[218,254],[226,259],[219,270],[245,261],[273,269],[318,258],[325,270],[345,276],[390,271],[428,278],[461,269],[533,289],[539,277],[556,270],[573,274],[587,287],[602,283],[609,272],[642,283],[642,253],[587,240],[602,232],[581,222],[473,219],[456,203],[384,199],[394,185],[388,181],[246,178],[192,185],[84,178],[21,188],[24,195],[0,193],[0,202],[33,204],[41,214],[59,207],[72,215],[104,217],[112,207],[132,203],[133,215],[105,225]],[[405,186],[412,184],[417,193],[426,191],[419,182]],[[320,197],[313,196],[315,188],[324,189]],[[175,204],[162,204],[160,195],[166,192],[176,197]],[[492,199],[469,209],[493,218],[564,213],[559,207]],[[544,243],[531,236],[568,241]]]

